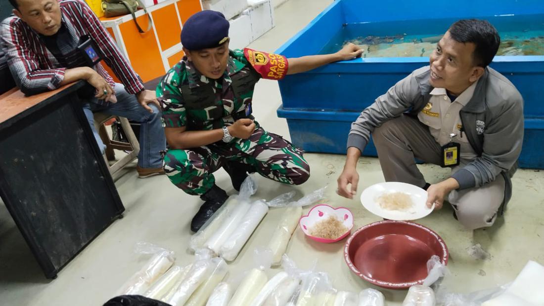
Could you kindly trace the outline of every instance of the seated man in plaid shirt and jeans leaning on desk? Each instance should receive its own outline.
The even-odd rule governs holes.
[[[93,112],[114,114],[141,123],[138,175],[163,174],[160,151],[166,141],[160,106],[153,91],[144,89],[112,37],[83,0],[9,0],[15,16],[0,24],[0,44],[17,86],[24,94],[54,90],[78,80],[88,82],[79,92],[83,110],[98,146]],[[122,84],[115,83],[101,63],[89,65],[78,45],[88,37],[96,52]]]

